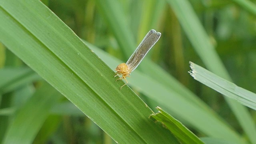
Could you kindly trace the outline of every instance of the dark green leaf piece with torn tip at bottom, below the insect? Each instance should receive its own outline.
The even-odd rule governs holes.
[[[186,126],[162,110],[162,108],[157,107],[156,109],[158,113],[152,114],[150,117],[154,118],[156,121],[162,122],[182,144],[204,144],[204,142],[188,130]]]

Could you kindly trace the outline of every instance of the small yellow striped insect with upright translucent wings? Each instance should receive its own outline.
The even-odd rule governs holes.
[[[122,75],[121,78],[116,79],[117,80],[122,80],[124,79],[126,83],[123,85],[125,86],[128,84],[128,81],[126,80],[126,77],[130,77],[130,73],[137,68],[137,66],[140,64],[142,59],[146,56],[148,51],[156,44],[158,39],[160,38],[161,33],[156,32],[155,30],[150,30],[148,34],[143,38],[142,42],[140,42],[140,45],[136,48],[132,56],[129,58],[129,60],[125,63],[119,64],[115,71],[116,71],[116,76]],[[114,77],[116,77],[114,76]],[[122,89],[122,87],[120,90]]]

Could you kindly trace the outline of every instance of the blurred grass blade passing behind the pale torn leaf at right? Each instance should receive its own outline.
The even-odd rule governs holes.
[[[168,2],[180,21],[188,39],[206,67],[218,76],[231,81],[224,64],[221,62],[214,46],[210,42],[210,38],[200,24],[200,21],[188,0],[168,0]],[[250,141],[256,143],[256,126],[248,110],[235,100],[226,97],[224,98],[234,112],[244,132],[248,135]]]

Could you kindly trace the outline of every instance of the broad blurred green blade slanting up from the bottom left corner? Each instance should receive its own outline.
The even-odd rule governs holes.
[[[3,144],[30,144],[49,115],[50,108],[61,94],[45,83],[18,110],[8,126]]]

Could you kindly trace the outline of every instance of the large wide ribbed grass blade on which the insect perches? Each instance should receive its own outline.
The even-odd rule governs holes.
[[[38,0],[0,1],[0,40],[118,143],[178,143],[152,110]]]

